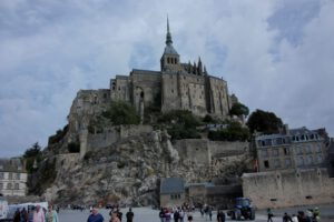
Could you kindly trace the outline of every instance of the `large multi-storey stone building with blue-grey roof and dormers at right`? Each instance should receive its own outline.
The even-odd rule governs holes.
[[[324,129],[289,130],[255,138],[258,171],[318,168],[327,163],[328,143]]]

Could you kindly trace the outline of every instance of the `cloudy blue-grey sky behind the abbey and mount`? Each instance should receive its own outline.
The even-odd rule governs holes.
[[[169,16],[183,62],[198,60],[249,107],[334,135],[332,0],[1,0],[0,157],[67,123],[80,89],[159,70]]]

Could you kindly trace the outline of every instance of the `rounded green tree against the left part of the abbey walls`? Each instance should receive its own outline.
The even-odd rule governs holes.
[[[139,124],[140,118],[136,112],[136,109],[124,101],[112,102],[110,108],[102,113],[102,115],[109,119],[112,124]]]

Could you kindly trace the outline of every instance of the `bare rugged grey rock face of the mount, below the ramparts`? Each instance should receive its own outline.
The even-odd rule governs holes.
[[[56,159],[57,176],[45,195],[60,204],[158,205],[161,178],[180,176],[186,182],[226,180],[249,164],[247,153],[216,169],[196,164],[179,155],[166,131],[122,139],[87,152],[84,159],[79,153],[58,154]],[[213,171],[220,173],[213,175]]]

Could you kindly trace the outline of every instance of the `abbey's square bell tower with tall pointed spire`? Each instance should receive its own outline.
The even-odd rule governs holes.
[[[165,47],[164,54],[160,59],[160,67],[161,67],[161,72],[179,70],[179,54],[173,47],[168,17],[167,17],[166,47]]]

